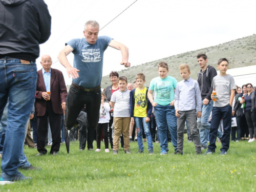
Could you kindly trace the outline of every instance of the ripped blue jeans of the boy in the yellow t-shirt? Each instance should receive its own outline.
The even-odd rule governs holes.
[[[136,123],[136,129],[137,129],[137,139],[138,139],[139,150],[142,150],[142,151],[144,151],[143,140],[142,140],[142,123],[144,127],[144,132],[146,135],[148,150],[153,150],[152,136],[150,133],[150,122],[146,123],[145,119],[146,117],[134,117],[134,120]]]

